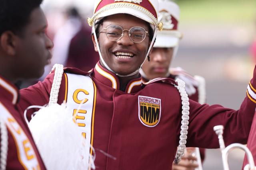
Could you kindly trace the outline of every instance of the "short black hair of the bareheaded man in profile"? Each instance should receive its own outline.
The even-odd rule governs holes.
[[[31,12],[43,0],[0,0],[0,35],[5,31],[21,33],[29,23]]]

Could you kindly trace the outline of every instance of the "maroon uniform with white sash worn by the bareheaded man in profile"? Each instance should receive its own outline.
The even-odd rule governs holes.
[[[45,170],[32,135],[18,112],[18,89],[0,76],[0,111],[8,131],[7,170]],[[1,146],[3,143],[1,143]]]

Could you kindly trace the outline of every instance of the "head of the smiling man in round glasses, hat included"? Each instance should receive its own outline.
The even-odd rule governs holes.
[[[96,0],[92,25],[100,64],[119,77],[138,76],[151,53],[158,23],[157,0]]]

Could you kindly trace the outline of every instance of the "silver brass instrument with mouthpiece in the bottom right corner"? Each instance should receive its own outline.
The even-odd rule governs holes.
[[[246,156],[249,161],[249,164],[247,164],[244,167],[244,170],[255,170],[256,167],[254,164],[252,153],[246,146],[244,146],[240,143],[232,143],[225,148],[225,144],[224,144],[224,140],[223,140],[223,136],[222,136],[223,129],[224,129],[224,127],[222,125],[217,125],[217,126],[213,127],[213,130],[215,131],[216,135],[218,135],[218,139],[219,139],[219,143],[220,143],[220,150],[222,152],[222,162],[223,162],[224,170],[230,170],[229,166],[228,166],[228,153],[229,153],[229,151],[231,151],[233,149],[242,149],[245,151]]]

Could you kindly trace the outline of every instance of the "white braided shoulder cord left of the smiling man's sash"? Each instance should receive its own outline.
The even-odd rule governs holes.
[[[55,69],[54,73],[54,78],[52,82],[52,89],[50,92],[50,101],[49,101],[49,106],[52,104],[56,104],[58,101],[58,94],[60,90],[60,83],[62,79],[62,74],[63,74],[63,65],[62,64],[54,64],[52,67],[52,70]]]

